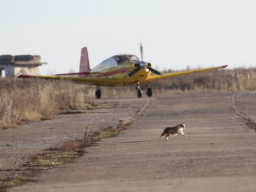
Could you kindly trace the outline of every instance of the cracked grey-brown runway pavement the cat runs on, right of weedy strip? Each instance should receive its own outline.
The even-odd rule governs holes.
[[[115,105],[94,114],[110,124],[149,105],[118,137],[99,141],[76,162],[43,171],[37,182],[9,191],[256,191],[255,97],[188,93],[102,100]],[[160,139],[165,127],[180,122],[187,137]]]

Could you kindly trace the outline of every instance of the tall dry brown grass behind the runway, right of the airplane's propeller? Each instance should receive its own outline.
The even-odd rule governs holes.
[[[166,71],[168,72],[168,71]],[[252,91],[256,90],[256,68],[205,71],[152,84],[159,92],[171,91]]]

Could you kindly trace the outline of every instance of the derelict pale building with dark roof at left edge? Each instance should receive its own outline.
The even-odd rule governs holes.
[[[40,55],[0,55],[0,77],[18,77],[20,74],[39,74]]]

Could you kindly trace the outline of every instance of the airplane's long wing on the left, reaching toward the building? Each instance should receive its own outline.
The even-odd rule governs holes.
[[[124,80],[121,78],[95,78],[95,77],[71,77],[71,76],[32,76],[32,75],[20,75],[18,78],[40,78],[40,79],[63,79],[71,80],[73,82],[87,84],[87,85],[107,85],[118,86],[123,85]]]

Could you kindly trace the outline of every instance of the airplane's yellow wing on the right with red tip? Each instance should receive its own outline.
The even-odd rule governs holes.
[[[191,73],[198,73],[198,72],[203,72],[203,71],[210,71],[214,69],[221,69],[221,68],[226,68],[227,65],[223,66],[215,66],[215,67],[210,67],[210,68],[202,68],[202,69],[194,69],[190,71],[179,71],[179,72],[174,72],[174,73],[164,73],[162,76],[159,75],[152,75],[149,76],[148,79],[146,79],[146,82],[152,82],[155,80],[160,80],[160,79],[166,79],[166,78],[173,78],[177,76],[183,76],[185,74],[191,74]]]

